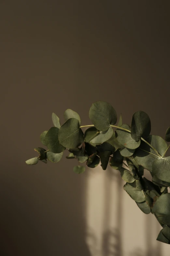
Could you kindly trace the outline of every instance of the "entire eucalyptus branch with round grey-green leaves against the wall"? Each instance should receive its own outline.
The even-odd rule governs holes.
[[[130,126],[122,123],[121,114],[117,121],[115,109],[103,101],[92,104],[89,118],[92,125],[81,126],[79,114],[67,109],[65,123],[60,125],[59,117],[52,113],[53,127],[40,135],[40,142],[47,149],[34,148],[37,156],[26,163],[35,165],[48,160],[56,163],[67,150],[66,158],[77,162],[73,168],[77,174],[86,169],[92,171],[99,164],[103,170],[107,166],[117,170],[126,182],[123,189],[139,210],[154,214],[162,226],[157,240],[170,244],[170,157],[166,156],[170,127],[165,132],[165,140],[150,135],[151,122],[147,113],[135,112]],[[144,177],[144,169],[150,172],[152,181]]]

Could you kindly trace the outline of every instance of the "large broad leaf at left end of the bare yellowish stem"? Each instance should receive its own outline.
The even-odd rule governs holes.
[[[70,118],[62,125],[58,137],[60,144],[67,148],[78,147],[84,142],[83,132],[76,118]]]

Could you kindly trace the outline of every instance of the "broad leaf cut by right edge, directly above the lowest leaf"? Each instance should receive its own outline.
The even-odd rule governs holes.
[[[152,213],[155,213],[163,224],[170,226],[170,193],[162,194],[156,200]]]

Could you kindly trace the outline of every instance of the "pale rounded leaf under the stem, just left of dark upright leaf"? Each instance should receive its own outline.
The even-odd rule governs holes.
[[[127,124],[123,124],[121,128],[125,128],[127,130],[131,130],[130,126]],[[140,141],[135,141],[131,137],[131,133],[128,131],[120,130],[119,128],[116,129],[116,138],[118,142],[123,145],[124,147],[130,148],[130,149],[135,149],[140,146]]]

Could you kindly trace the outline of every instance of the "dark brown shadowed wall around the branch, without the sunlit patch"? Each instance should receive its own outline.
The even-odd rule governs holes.
[[[93,102],[131,123],[146,111],[152,134],[170,125],[169,1],[0,2],[2,256],[90,256],[86,175],[75,161],[27,166],[39,135],[67,108],[91,124]],[[69,163],[68,163],[69,161]],[[138,230],[140,232],[140,230]]]

